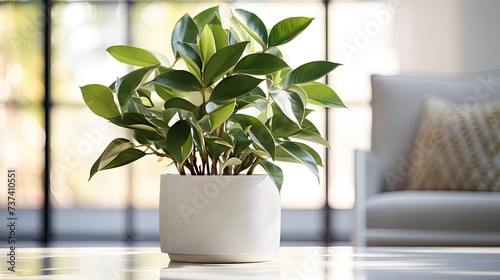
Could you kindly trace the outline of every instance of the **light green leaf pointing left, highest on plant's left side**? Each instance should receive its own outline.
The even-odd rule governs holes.
[[[160,65],[152,53],[134,46],[111,46],[106,49],[116,60],[125,64],[148,67]]]

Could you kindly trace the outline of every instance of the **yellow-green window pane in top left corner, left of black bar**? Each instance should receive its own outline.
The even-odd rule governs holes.
[[[0,4],[0,103],[43,100],[42,26],[40,5]]]

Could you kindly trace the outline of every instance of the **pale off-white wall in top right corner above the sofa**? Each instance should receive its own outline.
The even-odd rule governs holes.
[[[402,73],[500,68],[500,1],[401,0],[395,45]]]

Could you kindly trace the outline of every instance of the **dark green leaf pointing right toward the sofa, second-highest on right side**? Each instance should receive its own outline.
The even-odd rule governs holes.
[[[304,84],[307,82],[312,82],[330,73],[339,65],[340,64],[338,63],[330,61],[308,62],[290,72],[285,79],[284,86],[286,88],[293,84]]]

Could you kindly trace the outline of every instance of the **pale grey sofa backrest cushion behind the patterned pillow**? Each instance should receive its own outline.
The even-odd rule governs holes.
[[[500,100],[500,69],[455,77],[373,75],[371,150],[385,167],[384,189],[400,190],[408,178],[409,156],[425,97],[457,103]]]

